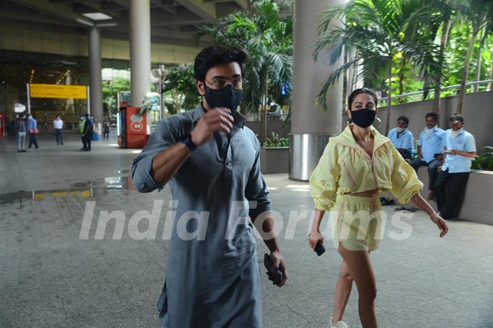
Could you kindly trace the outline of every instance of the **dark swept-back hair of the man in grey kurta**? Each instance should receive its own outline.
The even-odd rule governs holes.
[[[207,71],[217,64],[237,62],[240,65],[242,76],[244,76],[244,62],[247,60],[247,52],[236,46],[213,45],[202,49],[195,57],[194,78],[199,81],[205,80]]]

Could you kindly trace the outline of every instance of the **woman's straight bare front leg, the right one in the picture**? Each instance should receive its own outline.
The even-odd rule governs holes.
[[[377,297],[377,282],[373,273],[368,251],[349,251],[342,244],[338,249],[342,259],[349,268],[359,292],[359,319],[363,328],[377,328],[375,314],[375,299]]]

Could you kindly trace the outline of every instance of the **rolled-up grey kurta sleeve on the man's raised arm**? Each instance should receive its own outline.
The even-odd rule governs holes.
[[[142,153],[132,162],[132,183],[138,192],[151,192],[164,187],[164,184],[159,184],[153,179],[151,169],[155,155],[176,143],[172,123],[173,121],[169,118],[158,123],[151,138],[142,149]]]

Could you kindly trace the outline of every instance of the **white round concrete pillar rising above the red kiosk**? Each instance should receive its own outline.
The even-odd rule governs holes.
[[[130,0],[131,101],[142,105],[151,90],[151,6],[149,0]]]

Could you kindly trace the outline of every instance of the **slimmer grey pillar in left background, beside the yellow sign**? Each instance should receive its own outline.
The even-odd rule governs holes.
[[[89,29],[89,100],[94,119],[103,122],[103,85],[101,69],[101,31],[97,27]]]

